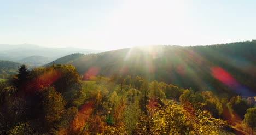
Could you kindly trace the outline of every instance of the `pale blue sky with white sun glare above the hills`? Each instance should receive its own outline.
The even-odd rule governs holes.
[[[256,39],[256,1],[0,0],[0,44],[114,50]]]

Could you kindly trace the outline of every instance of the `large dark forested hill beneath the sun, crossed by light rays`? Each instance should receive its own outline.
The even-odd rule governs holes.
[[[181,47],[156,45],[79,55],[64,62],[80,75],[137,75],[219,95],[255,95],[256,40],[230,44]]]

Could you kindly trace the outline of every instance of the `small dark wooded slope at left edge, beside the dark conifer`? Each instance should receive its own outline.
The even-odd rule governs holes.
[[[0,79],[16,74],[18,67],[20,67],[20,63],[0,60]]]

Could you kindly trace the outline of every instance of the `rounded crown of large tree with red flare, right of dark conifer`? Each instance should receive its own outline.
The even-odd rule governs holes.
[[[54,64],[45,68],[34,68],[31,72],[30,84],[27,86],[28,91],[40,91],[48,86],[54,86],[69,107],[73,104],[79,104],[73,103],[73,98],[80,99],[84,96],[81,92],[82,81],[71,65]]]

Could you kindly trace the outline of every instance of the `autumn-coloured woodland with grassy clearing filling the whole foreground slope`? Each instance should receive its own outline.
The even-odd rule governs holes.
[[[254,95],[255,96],[255,95]],[[255,134],[256,97],[25,65],[0,83],[0,134]]]

